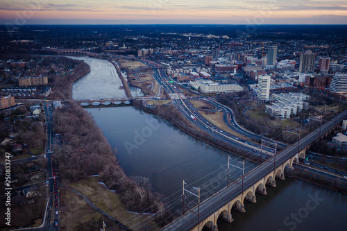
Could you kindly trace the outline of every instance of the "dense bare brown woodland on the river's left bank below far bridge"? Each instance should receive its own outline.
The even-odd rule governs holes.
[[[62,136],[55,153],[62,185],[99,175],[108,189],[114,189],[126,208],[133,212],[156,214],[162,222],[169,212],[160,202],[162,196],[151,192],[146,178],[128,178],[117,163],[102,131],[83,108],[75,103],[54,112],[55,132]],[[153,206],[154,205],[154,206]],[[146,209],[151,207],[151,209]]]

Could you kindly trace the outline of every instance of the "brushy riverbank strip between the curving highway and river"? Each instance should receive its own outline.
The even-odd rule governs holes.
[[[187,121],[187,119],[183,117],[183,115],[177,110],[175,105],[158,105],[155,108],[148,108],[143,105],[142,101],[140,100],[133,101],[133,105],[146,112],[151,112],[164,119],[167,119],[168,121],[171,121],[171,123],[174,123],[174,125],[180,128],[180,130],[183,130],[183,132],[186,132],[188,135],[211,144],[212,146],[215,146],[222,151],[226,151],[228,153],[231,153],[232,155],[237,155],[244,158],[245,160],[249,160],[257,164],[264,162],[264,160],[262,160],[260,157],[255,157],[252,154],[244,153],[244,151],[239,150],[235,146],[231,146],[230,144],[226,144],[225,142],[214,139],[203,130],[197,129],[192,123],[189,123],[189,121]]]

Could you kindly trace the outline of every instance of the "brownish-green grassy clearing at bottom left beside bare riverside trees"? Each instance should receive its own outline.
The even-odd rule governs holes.
[[[103,185],[96,182],[96,178],[90,177],[74,184],[70,184],[69,187],[81,192],[81,194],[85,195],[96,207],[99,207],[103,212],[110,214],[112,217],[117,219],[117,221],[130,228],[130,230],[158,230],[155,222],[140,227],[141,224],[143,224],[142,221],[148,218],[149,215],[127,212],[126,207],[121,203],[117,194],[105,189]]]

